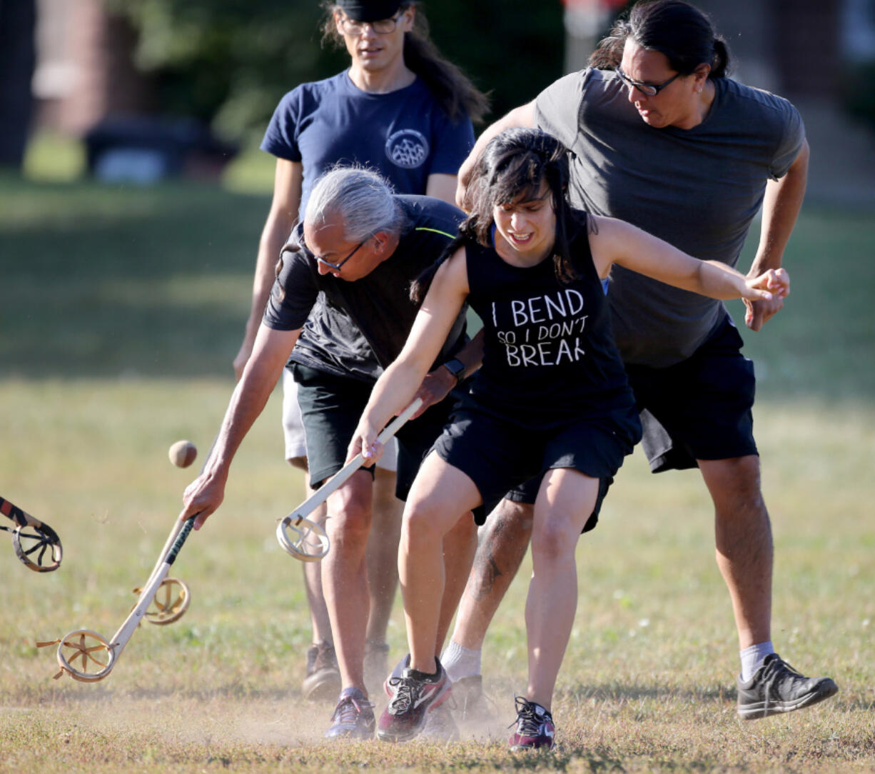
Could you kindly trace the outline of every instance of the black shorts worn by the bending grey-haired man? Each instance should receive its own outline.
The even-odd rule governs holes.
[[[304,420],[310,485],[316,488],[343,468],[346,450],[374,385],[297,362],[292,364],[291,372],[297,382],[297,403]],[[398,441],[395,495],[399,499],[407,497],[416,471],[440,435],[454,403],[455,393],[451,392],[395,434]],[[362,469],[374,475],[375,466]]]

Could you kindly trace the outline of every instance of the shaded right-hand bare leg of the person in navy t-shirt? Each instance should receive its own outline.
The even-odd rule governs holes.
[[[404,503],[395,497],[395,473],[377,468],[374,481],[374,516],[367,538],[367,581],[370,616],[367,641],[384,643],[395,590],[398,588],[398,540]]]

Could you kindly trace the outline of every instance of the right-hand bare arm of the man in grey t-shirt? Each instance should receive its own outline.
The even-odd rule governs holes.
[[[809,175],[809,144],[802,145],[793,165],[780,180],[769,180],[766,184],[766,197],[763,200],[760,245],[753,258],[748,277],[756,277],[769,269],[780,269],[784,259],[784,249],[793,233],[796,218],[802,208],[805,187]],[[784,306],[784,299],[771,301],[745,300],[747,313],[745,324],[753,331],[763,325]]]

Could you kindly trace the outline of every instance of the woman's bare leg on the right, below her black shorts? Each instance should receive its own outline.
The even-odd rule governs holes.
[[[577,538],[595,506],[598,479],[569,468],[544,476],[535,503],[532,580],[526,599],[526,698],[550,708],[577,610]]]

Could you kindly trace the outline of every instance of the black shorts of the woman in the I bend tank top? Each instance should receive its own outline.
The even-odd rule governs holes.
[[[534,503],[541,480],[551,468],[573,468],[598,478],[598,499],[583,531],[598,523],[598,511],[613,476],[641,439],[633,409],[604,419],[579,419],[567,426],[531,430],[483,412],[465,397],[450,424],[435,441],[435,450],[479,489],[483,504],[474,520],[483,524],[503,497]]]

